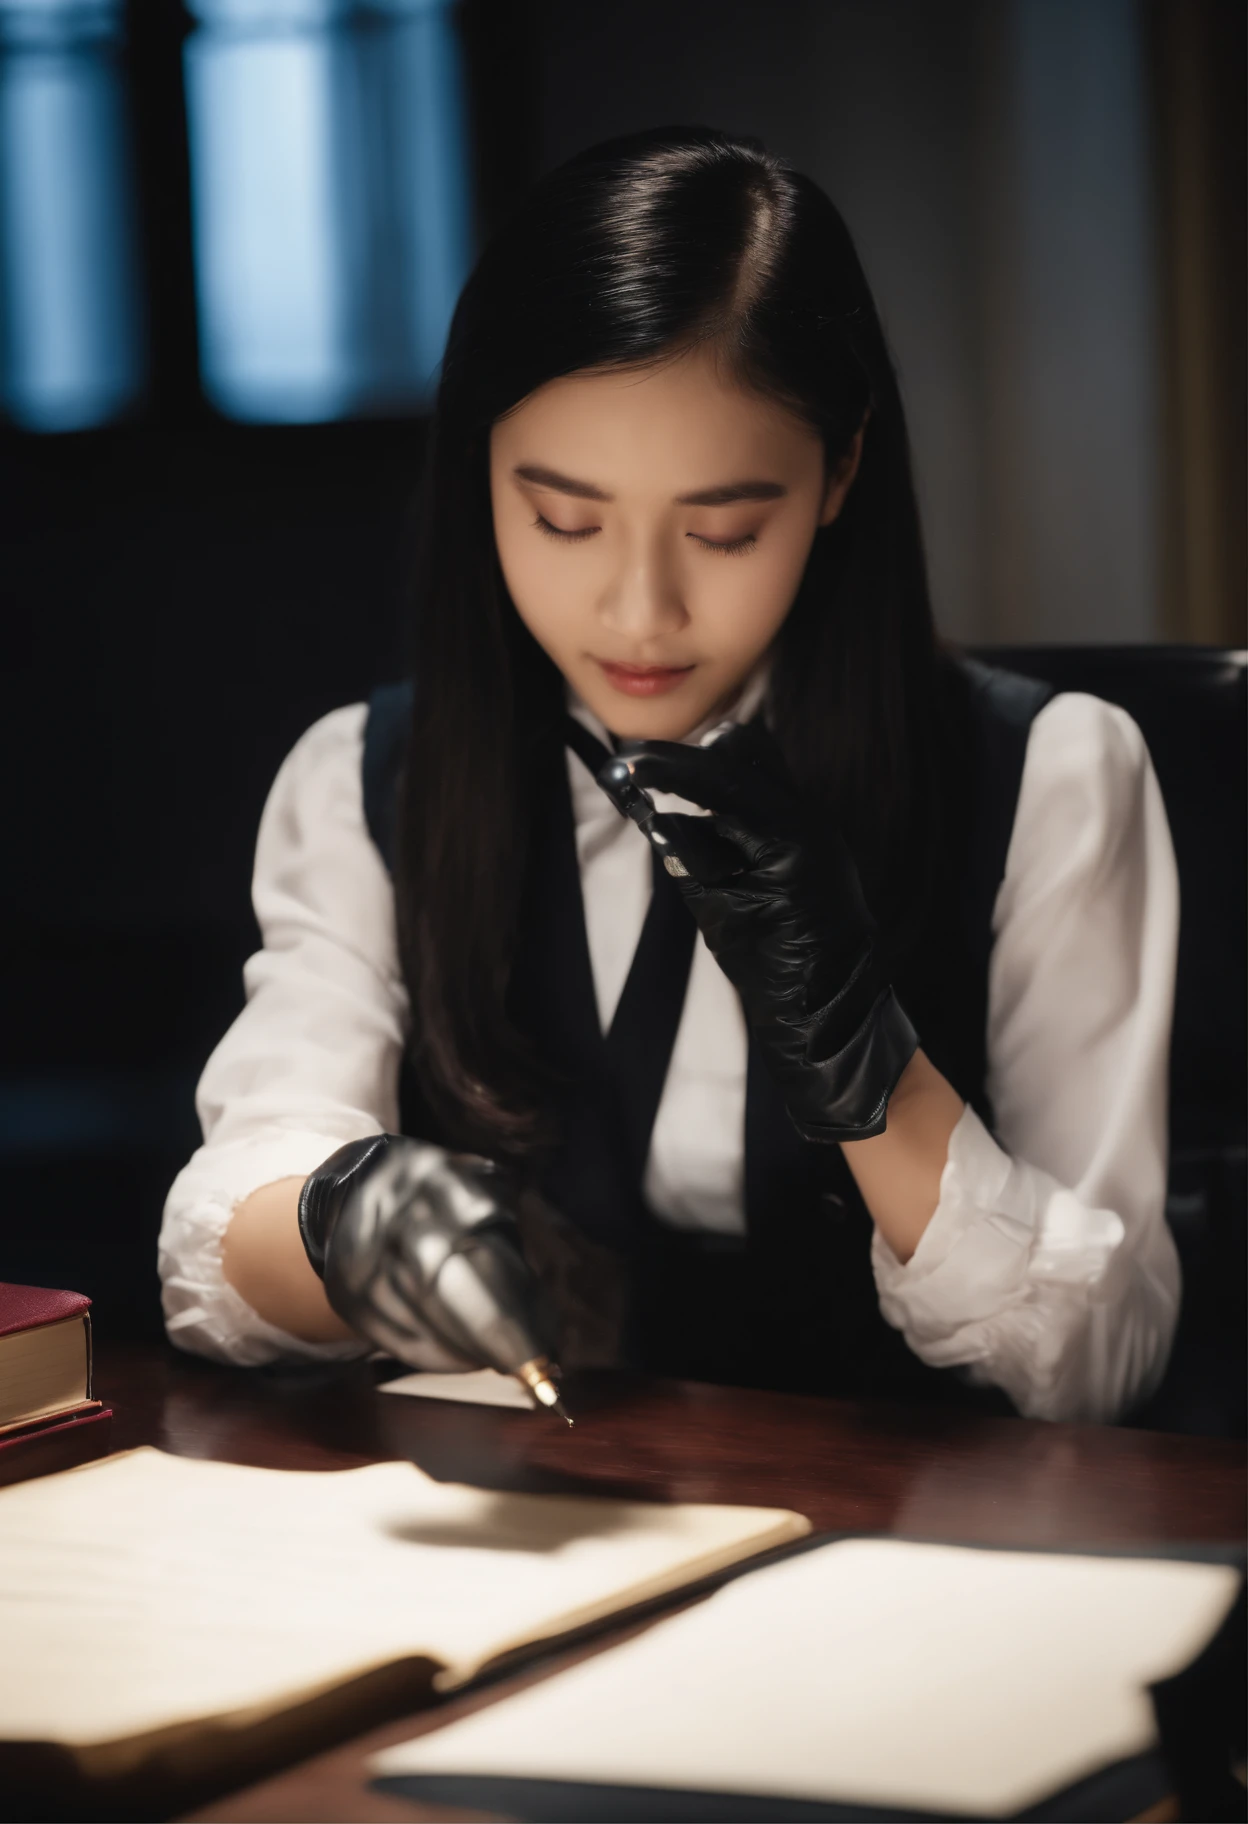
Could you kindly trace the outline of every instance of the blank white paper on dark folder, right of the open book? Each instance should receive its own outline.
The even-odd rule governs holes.
[[[1146,1751],[1222,1565],[847,1539],[389,1749],[458,1773],[1004,1817]]]

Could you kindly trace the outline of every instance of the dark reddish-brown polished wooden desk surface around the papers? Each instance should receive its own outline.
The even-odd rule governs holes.
[[[378,1394],[369,1364],[228,1370],[162,1346],[108,1342],[95,1392],[115,1410],[119,1450],[159,1445],[299,1470],[409,1457],[440,1481],[790,1507],[816,1530],[983,1545],[1148,1549],[1244,1538],[1244,1450],[1221,1439],[615,1375],[569,1383],[569,1432],[546,1414]],[[620,1636],[617,1627],[604,1638]],[[365,1755],[589,1651],[597,1647],[547,1654],[536,1671],[392,1720],[195,1817],[451,1817],[369,1791]]]

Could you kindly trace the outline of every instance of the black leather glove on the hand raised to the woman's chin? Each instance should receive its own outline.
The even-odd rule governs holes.
[[[874,947],[854,859],[817,841],[759,722],[710,748],[626,742],[598,772],[617,810],[662,854],[806,1140],[883,1133],[918,1038]],[[710,817],[657,812],[673,792]]]

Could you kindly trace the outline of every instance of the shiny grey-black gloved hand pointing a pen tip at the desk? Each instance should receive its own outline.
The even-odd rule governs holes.
[[[518,1373],[556,1406],[507,1195],[493,1160],[374,1135],[307,1180],[299,1235],[328,1302],[361,1337],[414,1368]]]

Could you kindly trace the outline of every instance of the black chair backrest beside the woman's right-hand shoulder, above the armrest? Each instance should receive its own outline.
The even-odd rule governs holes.
[[[1170,1133],[1243,1147],[1248,1105],[1248,653],[1208,646],[998,646],[998,664],[1120,704],[1157,768],[1182,897]]]

